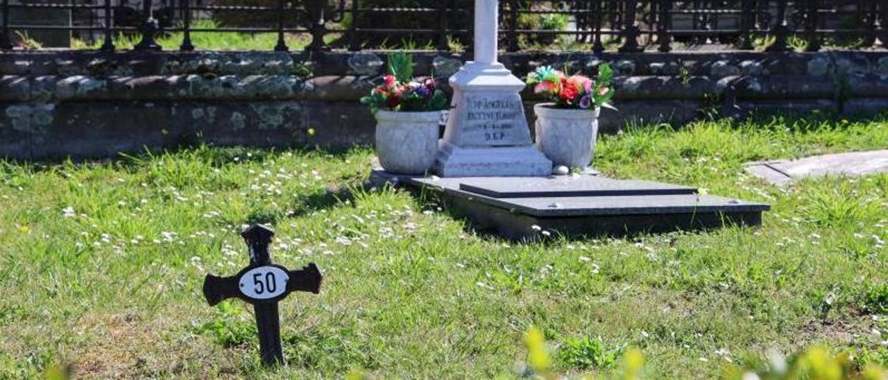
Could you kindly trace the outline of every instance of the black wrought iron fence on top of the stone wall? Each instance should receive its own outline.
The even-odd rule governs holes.
[[[888,44],[888,0],[502,0],[500,7],[506,51]],[[38,11],[71,12],[71,21],[37,25],[15,17]],[[16,33],[43,30],[102,41],[102,51],[115,51],[121,35],[138,38],[137,51],[160,49],[158,36],[180,36],[178,49],[192,51],[193,34],[208,32],[274,33],[268,48],[275,51],[289,50],[285,36],[310,40],[308,51],[452,51],[471,47],[472,11],[472,0],[0,0],[0,50],[15,47]]]

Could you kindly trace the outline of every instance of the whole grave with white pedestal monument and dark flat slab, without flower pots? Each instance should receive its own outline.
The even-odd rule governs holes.
[[[762,223],[769,205],[692,186],[551,176],[551,162],[530,141],[519,96],[525,83],[496,61],[498,5],[475,0],[475,60],[450,78],[454,109],[435,163],[439,176],[374,170],[371,183],[439,194],[452,214],[512,240],[543,232],[623,235]]]

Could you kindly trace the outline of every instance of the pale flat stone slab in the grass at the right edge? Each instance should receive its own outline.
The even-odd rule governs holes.
[[[824,154],[798,160],[759,161],[746,164],[746,171],[774,185],[799,178],[861,176],[888,172],[888,149],[869,152]]]

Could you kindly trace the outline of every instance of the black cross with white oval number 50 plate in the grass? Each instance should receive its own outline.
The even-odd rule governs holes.
[[[210,306],[234,297],[253,305],[262,362],[266,366],[284,364],[277,303],[297,290],[318,294],[323,276],[314,263],[298,271],[289,271],[281,265],[273,264],[268,245],[272,241],[274,230],[268,226],[250,226],[241,236],[250,247],[250,266],[231,277],[207,274],[203,280],[203,297],[206,297]]]

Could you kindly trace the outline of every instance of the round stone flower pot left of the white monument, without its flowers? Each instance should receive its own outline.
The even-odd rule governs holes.
[[[438,154],[441,112],[377,111],[377,156],[385,171],[424,174]]]

